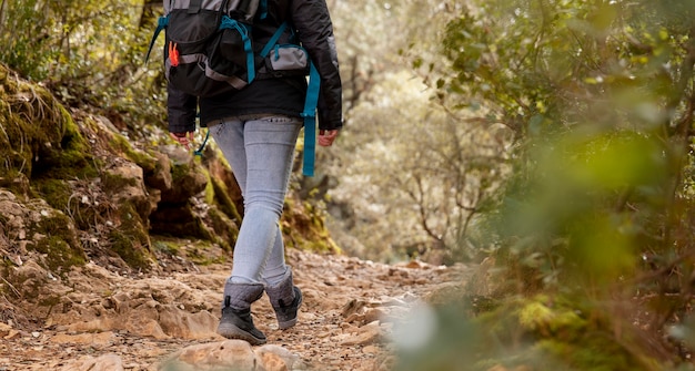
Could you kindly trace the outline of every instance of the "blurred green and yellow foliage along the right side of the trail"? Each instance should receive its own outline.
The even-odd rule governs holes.
[[[482,111],[517,138],[512,176],[479,225],[502,272],[486,295],[527,302],[545,292],[611,323],[584,330],[603,332],[601,346],[567,351],[532,338],[521,349],[600,359],[620,343],[631,349],[626,362],[689,362],[681,341],[692,331],[683,319],[695,262],[694,12],[677,0],[498,0],[447,24],[442,52],[453,71],[432,70],[441,102]],[[482,333],[494,326],[484,316],[474,322]],[[564,359],[558,368],[606,362]],[[608,369],[657,369],[647,364]]]

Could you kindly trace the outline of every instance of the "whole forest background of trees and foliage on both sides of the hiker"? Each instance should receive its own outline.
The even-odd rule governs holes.
[[[694,369],[695,1],[329,7],[345,130],[293,190],[349,254],[488,267],[403,369]],[[160,11],[2,0],[0,61],[160,143]]]

